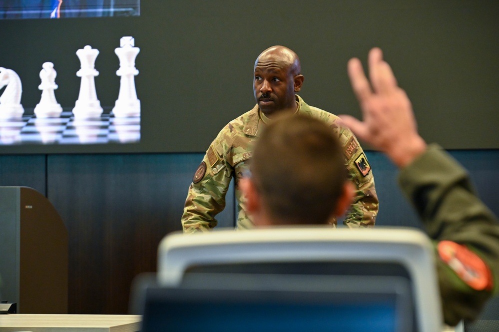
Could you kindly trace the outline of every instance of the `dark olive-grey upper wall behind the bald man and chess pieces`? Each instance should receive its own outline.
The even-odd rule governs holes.
[[[140,47],[139,144],[0,146],[0,153],[201,152],[231,119],[254,105],[253,64],[283,44],[302,60],[302,97],[333,113],[359,115],[346,64],[380,46],[411,97],[420,131],[448,149],[499,148],[499,1],[177,0],[141,1],[139,17],[1,20],[0,66],[23,82],[22,103],[40,99],[44,61],[55,91],[74,107],[78,48],[99,49],[97,96],[113,106],[119,89],[114,48]]]

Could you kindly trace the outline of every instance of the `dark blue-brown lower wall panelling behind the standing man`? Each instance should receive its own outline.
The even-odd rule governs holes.
[[[499,150],[453,151],[499,215]],[[397,170],[367,152],[380,198],[377,225],[420,227]],[[3,155],[0,186],[46,191],[69,235],[69,313],[126,314],[133,278],[156,270],[157,246],[181,229],[187,187],[202,154]],[[234,225],[229,190],[220,226]]]

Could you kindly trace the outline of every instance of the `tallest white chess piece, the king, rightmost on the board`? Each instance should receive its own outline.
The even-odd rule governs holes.
[[[135,90],[135,77],[138,70],[135,68],[135,58],[140,48],[134,47],[133,37],[121,37],[120,47],[114,49],[119,58],[119,69],[116,75],[120,76],[118,99],[112,109],[115,117],[140,116],[140,100]]]

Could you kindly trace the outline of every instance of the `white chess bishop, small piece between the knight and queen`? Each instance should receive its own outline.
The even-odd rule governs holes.
[[[34,107],[34,114],[37,118],[56,118],[62,113],[62,107],[55,100],[54,90],[57,89],[55,77],[57,73],[52,62],[45,62],[40,71],[41,84],[38,89],[41,90],[40,102]]]

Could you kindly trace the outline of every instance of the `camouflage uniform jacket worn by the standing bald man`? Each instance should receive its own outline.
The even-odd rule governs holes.
[[[345,128],[339,128],[336,115],[307,105],[297,96],[298,113],[307,114],[331,125],[345,147],[346,165],[356,185],[354,203],[343,223],[348,227],[372,227],[378,214],[378,196],[371,166],[357,138]],[[184,213],[183,230],[186,233],[211,230],[217,225],[215,215],[225,207],[225,194],[231,179],[235,179],[238,202],[238,228],[253,226],[246,214],[245,202],[239,190],[239,179],[248,170],[255,139],[265,123],[259,115],[258,105],[229,122],[211,143],[189,186]],[[336,225],[336,220],[332,221]]]

